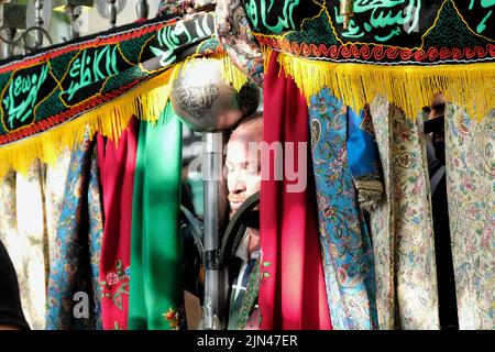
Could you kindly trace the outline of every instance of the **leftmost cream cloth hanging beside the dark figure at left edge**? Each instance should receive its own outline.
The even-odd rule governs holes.
[[[36,160],[25,175],[10,172],[2,182],[0,202],[0,239],[14,264],[22,309],[34,330],[45,327],[44,170]]]

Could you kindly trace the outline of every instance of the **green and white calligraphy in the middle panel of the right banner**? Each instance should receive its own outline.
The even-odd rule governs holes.
[[[343,18],[339,14],[339,4],[333,8],[337,23],[341,24]],[[384,43],[418,31],[420,10],[421,0],[355,0],[354,18],[341,35],[360,38],[372,34],[375,41]]]

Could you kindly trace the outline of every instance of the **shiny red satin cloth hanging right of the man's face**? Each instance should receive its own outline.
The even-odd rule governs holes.
[[[278,180],[274,173],[263,175],[262,170],[261,329],[331,329],[318,244],[315,184],[308,162],[308,107],[294,80],[280,73],[276,54],[272,55],[265,76],[264,106],[263,142],[295,143],[284,152],[297,154],[296,164],[299,157],[306,157],[306,163],[299,164],[298,180],[307,177],[307,185],[294,189],[287,175]],[[289,151],[294,146],[296,152]],[[298,146],[302,153],[297,152]],[[271,161],[270,165],[272,168],[275,163]]]

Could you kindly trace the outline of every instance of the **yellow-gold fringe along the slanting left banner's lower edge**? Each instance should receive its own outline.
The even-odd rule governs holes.
[[[121,97],[109,101],[82,116],[37,135],[0,147],[0,179],[13,168],[25,174],[35,158],[53,165],[65,147],[75,148],[89,128],[118,143],[133,116],[156,123],[170,92],[170,77],[177,67],[153,77]]]

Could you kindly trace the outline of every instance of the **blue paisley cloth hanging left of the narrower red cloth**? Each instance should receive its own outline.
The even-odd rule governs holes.
[[[86,136],[72,155],[50,263],[47,329],[101,329],[102,206],[95,146]],[[76,317],[74,308],[79,302]]]

